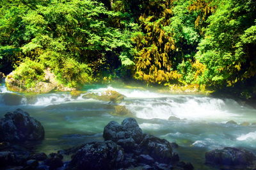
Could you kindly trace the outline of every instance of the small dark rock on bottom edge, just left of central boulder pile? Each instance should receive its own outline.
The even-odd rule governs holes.
[[[49,169],[57,169],[58,167],[63,166],[62,159],[62,155],[58,153],[51,153],[49,158],[47,158],[44,162],[45,165],[49,166]]]

